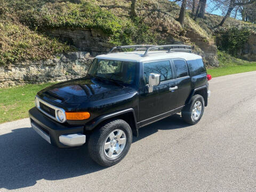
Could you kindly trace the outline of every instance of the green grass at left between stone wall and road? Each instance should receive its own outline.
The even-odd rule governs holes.
[[[28,117],[28,110],[35,106],[36,93],[51,84],[0,89],[0,123]]]

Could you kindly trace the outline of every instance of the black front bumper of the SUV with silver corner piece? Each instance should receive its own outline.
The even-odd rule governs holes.
[[[31,127],[47,142],[59,148],[82,146],[86,136],[83,126],[61,124],[45,116],[36,107],[29,110]]]

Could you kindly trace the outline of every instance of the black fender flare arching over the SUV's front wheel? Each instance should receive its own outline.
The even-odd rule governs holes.
[[[91,124],[85,125],[85,130],[93,131],[93,129],[95,129],[95,127],[97,127],[101,123],[110,121],[111,119],[117,119],[117,118],[123,119],[125,122],[127,122],[132,129],[133,135],[135,135],[136,137],[139,136],[137,119],[135,116],[134,109],[132,109],[132,108],[117,111],[117,112],[111,113],[111,114],[101,115],[101,116],[93,119]]]

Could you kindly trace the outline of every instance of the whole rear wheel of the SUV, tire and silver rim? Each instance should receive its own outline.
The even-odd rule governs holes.
[[[196,94],[192,97],[191,102],[181,111],[183,120],[191,125],[200,121],[204,113],[204,98]]]

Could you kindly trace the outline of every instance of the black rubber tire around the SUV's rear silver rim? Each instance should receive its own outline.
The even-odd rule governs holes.
[[[192,113],[193,113],[193,107],[197,101],[200,101],[202,103],[202,110],[199,117],[197,119],[194,119],[192,116]],[[194,95],[191,99],[191,102],[188,105],[186,105],[181,111],[181,116],[183,120],[186,123],[191,125],[197,124],[202,118],[203,114],[204,114],[204,98],[202,97],[202,95],[199,95],[199,94]]]

